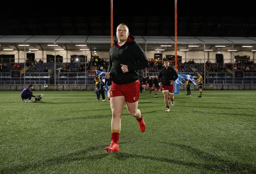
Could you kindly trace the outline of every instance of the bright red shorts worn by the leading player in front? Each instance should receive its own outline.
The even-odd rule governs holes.
[[[139,100],[140,96],[140,80],[136,82],[118,85],[112,82],[110,88],[110,98],[124,96],[125,101],[128,103],[134,103]]]

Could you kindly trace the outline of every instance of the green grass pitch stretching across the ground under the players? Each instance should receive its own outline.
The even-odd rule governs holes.
[[[125,108],[118,153],[106,153],[111,110],[93,91],[0,92],[0,173],[256,173],[256,91],[140,95],[147,129]]]

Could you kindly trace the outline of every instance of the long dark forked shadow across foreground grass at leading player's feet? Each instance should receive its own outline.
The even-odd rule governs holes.
[[[163,162],[163,163],[170,163],[170,164],[177,164],[181,166],[188,166],[191,168],[197,168],[201,170],[209,170],[209,171],[220,171],[223,173],[239,173],[239,174],[246,174],[246,173],[256,173],[256,167],[251,164],[241,164],[235,161],[227,161],[220,159],[219,157],[212,156],[202,150],[195,149],[193,147],[189,147],[187,145],[180,145],[175,143],[166,143],[166,142],[159,142],[164,143],[166,145],[178,147],[180,149],[186,150],[188,153],[200,157],[204,159],[204,161],[208,161],[209,163],[213,164],[198,164],[198,163],[191,163],[186,161],[179,161],[170,159],[167,157],[157,157],[157,156],[143,156],[137,154],[128,154],[128,153],[100,153],[98,155],[90,155],[86,156],[88,153],[91,153],[96,150],[102,150],[106,147],[105,145],[101,145],[98,147],[92,147],[85,150],[81,150],[79,152],[74,152],[67,154],[65,156],[55,157],[52,159],[48,159],[46,161],[38,161],[36,163],[18,165],[18,166],[10,166],[9,168],[3,168],[0,170],[0,173],[22,173],[26,170],[33,170],[35,168],[45,167],[45,166],[54,166],[56,164],[63,164],[69,163],[74,161],[93,161],[102,159],[109,155],[115,157],[118,160],[126,160],[129,158],[133,159],[149,159],[152,161]]]

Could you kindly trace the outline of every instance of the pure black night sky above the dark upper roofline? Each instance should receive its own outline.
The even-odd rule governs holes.
[[[82,2],[84,4],[82,4]],[[1,17],[65,17],[109,16],[110,0],[102,1],[8,1],[1,2]],[[238,3],[239,2],[239,3]],[[253,1],[229,0],[177,0],[178,16],[234,16],[250,17],[254,14]],[[120,1],[113,0],[115,15],[174,16],[175,1]]]

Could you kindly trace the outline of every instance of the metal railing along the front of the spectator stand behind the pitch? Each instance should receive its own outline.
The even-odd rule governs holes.
[[[157,72],[150,72],[147,75],[156,75]],[[197,73],[186,73],[182,72],[182,74],[190,74],[193,78],[196,78]],[[58,85],[87,85],[94,84],[94,77],[96,75],[95,71],[86,71],[86,72],[56,72],[56,78],[52,76],[48,72],[26,72],[24,74],[17,71],[10,72],[0,72],[0,84],[58,84]],[[207,84],[256,84],[256,72],[243,72],[237,71],[235,75],[232,73],[221,72],[207,72],[205,76],[205,85]]]

